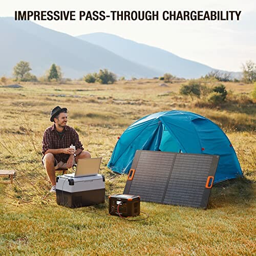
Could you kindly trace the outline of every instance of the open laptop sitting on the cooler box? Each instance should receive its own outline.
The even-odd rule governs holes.
[[[65,174],[64,176],[77,178],[97,175],[99,173],[101,160],[102,157],[78,159],[75,173]]]

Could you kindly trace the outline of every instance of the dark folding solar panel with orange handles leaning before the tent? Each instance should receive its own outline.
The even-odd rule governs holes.
[[[137,151],[123,194],[142,201],[207,207],[219,156]]]

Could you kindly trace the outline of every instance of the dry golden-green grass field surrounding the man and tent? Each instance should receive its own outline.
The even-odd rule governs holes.
[[[225,83],[229,103],[210,108],[179,95],[183,82],[168,87],[140,79],[114,85],[24,83],[23,88],[0,88],[0,169],[16,170],[13,185],[0,184],[0,254],[255,254],[256,106],[248,100],[253,86]],[[56,105],[69,109],[68,124],[85,150],[103,157],[105,204],[70,209],[58,206],[49,194],[40,163],[41,139]],[[220,125],[237,152],[244,178],[215,185],[207,210],[142,202],[141,210],[150,214],[145,221],[93,214],[107,215],[107,196],[123,192],[126,176],[106,167],[117,137],[145,115],[174,109]]]

